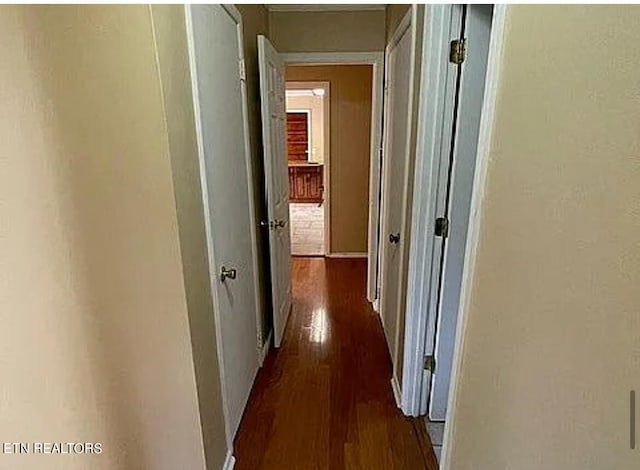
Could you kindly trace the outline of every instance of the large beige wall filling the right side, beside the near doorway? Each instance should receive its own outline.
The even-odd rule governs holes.
[[[638,24],[508,9],[452,469],[640,464]]]

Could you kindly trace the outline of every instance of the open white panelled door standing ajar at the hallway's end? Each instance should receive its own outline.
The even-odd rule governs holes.
[[[262,140],[269,220],[274,345],[279,347],[291,311],[291,234],[286,148],[284,61],[264,36],[258,36]]]

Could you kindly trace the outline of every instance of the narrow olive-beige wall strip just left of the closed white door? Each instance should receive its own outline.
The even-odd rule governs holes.
[[[208,468],[227,451],[184,7],[151,7]]]

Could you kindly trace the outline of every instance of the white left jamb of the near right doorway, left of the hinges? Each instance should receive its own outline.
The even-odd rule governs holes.
[[[424,380],[425,335],[431,302],[431,265],[435,247],[435,213],[442,152],[449,151],[445,135],[445,94],[450,40],[451,5],[429,5],[425,15],[414,180],[411,242],[407,267],[404,359],[400,407],[408,416],[420,416]],[[450,110],[449,110],[450,111]]]

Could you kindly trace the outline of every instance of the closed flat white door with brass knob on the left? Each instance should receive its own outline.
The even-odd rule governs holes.
[[[259,367],[242,25],[230,6],[191,5],[186,11],[223,402],[232,439]]]

